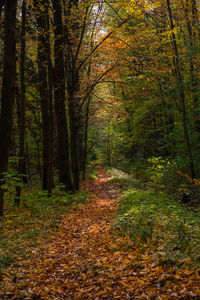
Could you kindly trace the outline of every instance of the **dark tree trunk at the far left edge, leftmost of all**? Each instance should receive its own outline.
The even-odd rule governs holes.
[[[5,34],[4,34],[4,61],[2,100],[0,114],[0,180],[8,168],[9,148],[13,124],[13,103],[15,98],[16,80],[16,7],[17,1],[5,3]],[[3,215],[4,190],[0,181],[0,215]]]

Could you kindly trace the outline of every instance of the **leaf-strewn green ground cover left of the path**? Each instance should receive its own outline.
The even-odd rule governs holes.
[[[86,202],[85,192],[70,194],[60,187],[54,189],[51,197],[40,190],[27,192],[20,208],[9,207],[0,218],[0,270],[29,257],[56,233],[66,213]]]

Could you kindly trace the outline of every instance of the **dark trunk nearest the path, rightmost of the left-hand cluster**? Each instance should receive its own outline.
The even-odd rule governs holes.
[[[76,98],[79,90],[79,66],[78,56],[83,41],[83,35],[80,36],[80,22],[77,20],[71,21],[73,9],[78,8],[78,0],[70,0],[67,8],[65,7],[65,46],[66,54],[66,74],[67,74],[67,92],[68,92],[68,107],[70,121],[70,142],[71,142],[71,164],[73,174],[73,186],[75,190],[79,190],[80,184],[80,161],[79,161],[79,145],[82,141],[80,138],[80,114],[79,100]],[[85,25],[84,25],[85,26]],[[85,27],[83,26],[84,33]],[[72,37],[73,33],[73,37]]]

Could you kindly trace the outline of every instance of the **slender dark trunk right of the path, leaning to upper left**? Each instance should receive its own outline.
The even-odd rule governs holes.
[[[175,66],[176,66],[176,79],[177,79],[179,98],[180,98],[181,107],[182,107],[182,122],[183,122],[183,129],[184,129],[184,137],[185,137],[185,143],[186,143],[188,157],[189,157],[191,177],[194,178],[195,177],[194,159],[193,159],[192,147],[191,147],[189,130],[188,130],[187,112],[186,112],[186,107],[185,107],[185,93],[184,93],[183,80],[182,80],[181,70],[180,70],[178,46],[177,46],[175,34],[173,32],[174,23],[173,23],[170,0],[166,0],[166,1],[167,1],[167,8],[168,8],[168,14],[169,14],[169,20],[170,20],[170,27],[172,30],[172,42],[173,42],[173,47],[174,47]]]

